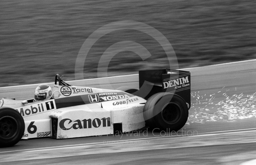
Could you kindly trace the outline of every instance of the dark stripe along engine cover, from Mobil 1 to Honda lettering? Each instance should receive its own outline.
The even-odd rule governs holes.
[[[111,100],[104,100],[101,97],[118,96],[118,95],[127,95],[129,97],[134,96],[134,95],[126,93],[126,92],[108,92],[108,93],[116,93],[116,94],[107,94],[107,95],[100,95],[100,94],[106,94],[106,93],[94,93],[94,94],[99,95],[98,102],[111,101]],[[90,102],[89,95],[93,95],[93,94],[89,93],[86,95],[56,98],[55,99],[56,109],[77,106],[77,105],[83,105],[83,104],[92,104],[92,102]],[[122,99],[122,98],[120,98],[120,99]],[[113,99],[113,100],[117,100],[117,99]],[[95,102],[95,103],[98,103],[98,102]]]

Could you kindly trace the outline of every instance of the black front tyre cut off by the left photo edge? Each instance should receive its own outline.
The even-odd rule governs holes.
[[[18,143],[25,130],[20,113],[12,108],[0,108],[0,147],[11,147]]]

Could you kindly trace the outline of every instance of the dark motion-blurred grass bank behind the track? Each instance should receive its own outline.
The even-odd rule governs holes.
[[[1,0],[0,87],[48,83],[55,74],[75,80],[75,63],[85,39],[103,25],[121,20],[148,24],[172,44],[179,68],[256,58],[255,0]],[[145,61],[120,52],[108,76],[168,68],[161,45],[135,30],[100,38],[84,64],[84,78],[97,78],[100,56],[116,42],[130,40],[148,49]],[[246,67],[246,66],[244,66]]]

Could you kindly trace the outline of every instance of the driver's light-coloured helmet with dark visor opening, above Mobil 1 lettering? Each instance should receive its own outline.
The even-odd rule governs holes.
[[[51,87],[47,84],[41,84],[38,87],[36,87],[35,91],[35,100],[45,100],[51,97],[52,95],[52,90]]]

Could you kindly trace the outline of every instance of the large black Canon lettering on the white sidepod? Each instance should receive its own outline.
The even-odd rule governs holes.
[[[66,125],[66,126],[65,126]],[[83,120],[71,120],[69,118],[62,119],[60,121],[60,128],[63,130],[73,129],[85,129],[85,128],[98,128],[102,125],[102,127],[110,126],[110,117],[108,118],[94,118],[92,119],[83,119]]]

